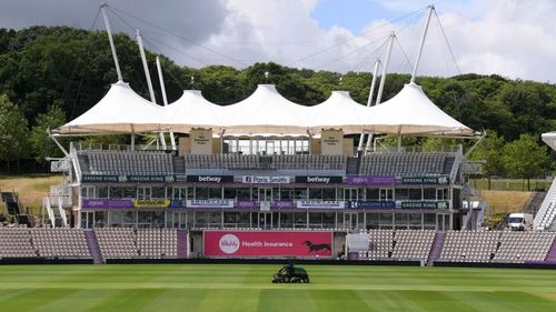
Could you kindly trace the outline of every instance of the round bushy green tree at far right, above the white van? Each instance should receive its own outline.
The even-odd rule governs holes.
[[[538,144],[538,139],[532,134],[522,134],[519,140],[504,147],[502,160],[510,178],[527,179],[527,190],[530,190],[532,178],[544,173],[548,164],[548,151]]]

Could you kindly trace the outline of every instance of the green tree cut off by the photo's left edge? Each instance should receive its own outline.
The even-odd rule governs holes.
[[[10,162],[26,155],[28,134],[27,120],[19,108],[6,94],[0,95],[0,161],[6,161],[8,173]]]

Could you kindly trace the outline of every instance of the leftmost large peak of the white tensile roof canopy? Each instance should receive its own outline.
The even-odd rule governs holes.
[[[112,83],[91,109],[59,129],[60,133],[140,133],[163,128],[162,107],[137,94],[128,83]]]

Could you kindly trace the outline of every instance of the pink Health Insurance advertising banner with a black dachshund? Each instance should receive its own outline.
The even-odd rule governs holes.
[[[205,231],[206,256],[332,255],[332,232],[326,231]]]

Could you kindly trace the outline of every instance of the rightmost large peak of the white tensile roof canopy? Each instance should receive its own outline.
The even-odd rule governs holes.
[[[371,133],[473,135],[474,131],[433,103],[420,85],[408,83],[388,101],[373,107],[365,128]]]

